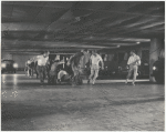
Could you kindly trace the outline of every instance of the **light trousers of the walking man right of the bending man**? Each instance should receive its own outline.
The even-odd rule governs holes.
[[[92,64],[91,74],[90,74],[89,79],[95,81],[97,77],[98,77],[98,65]]]

